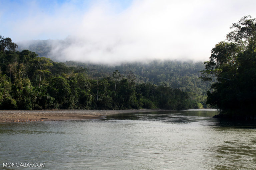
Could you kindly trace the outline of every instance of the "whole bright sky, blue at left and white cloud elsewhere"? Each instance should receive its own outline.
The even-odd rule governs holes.
[[[207,61],[255,0],[1,0],[0,35],[65,40],[60,61]]]

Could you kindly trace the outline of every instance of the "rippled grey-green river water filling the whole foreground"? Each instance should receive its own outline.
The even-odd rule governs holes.
[[[104,120],[0,123],[0,169],[256,169],[256,124],[213,110],[112,115]],[[3,167],[3,163],[45,167]]]

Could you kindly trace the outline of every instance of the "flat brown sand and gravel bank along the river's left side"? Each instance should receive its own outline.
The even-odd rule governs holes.
[[[164,110],[0,110],[0,122],[31,122],[103,119],[104,116],[118,113],[155,112]]]

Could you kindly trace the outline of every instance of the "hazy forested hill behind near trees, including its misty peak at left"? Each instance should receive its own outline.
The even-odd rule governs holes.
[[[17,49],[19,51],[28,49],[34,51],[40,57],[49,56],[49,58],[56,60],[56,56],[51,56],[50,52],[54,44],[61,43],[64,49],[72,41],[70,37],[65,40],[31,40],[18,43],[19,47]],[[193,100],[201,103],[204,107],[208,107],[205,102],[211,82],[203,82],[199,79],[201,76],[199,71],[205,69],[203,62],[154,60],[147,63],[130,62],[119,65],[104,65],[66,61],[65,64],[68,67],[85,68],[86,73],[91,78],[112,77],[113,71],[118,70],[120,74],[126,77],[136,77],[136,83],[151,83],[178,88],[187,92]]]

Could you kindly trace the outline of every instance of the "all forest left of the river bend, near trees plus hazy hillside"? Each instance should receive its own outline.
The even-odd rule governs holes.
[[[189,109],[205,105],[203,63],[55,62],[1,36],[1,109]]]

